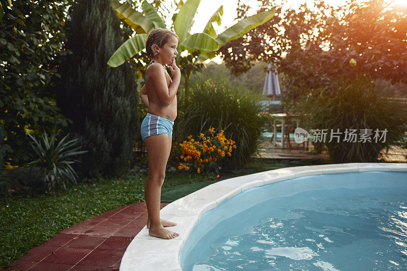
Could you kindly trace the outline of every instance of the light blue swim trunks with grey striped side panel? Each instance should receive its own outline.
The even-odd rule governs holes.
[[[165,117],[147,113],[147,116],[144,117],[141,123],[141,138],[144,141],[146,137],[161,134],[168,134],[168,138],[170,138],[172,135],[173,125],[174,122],[166,119]]]

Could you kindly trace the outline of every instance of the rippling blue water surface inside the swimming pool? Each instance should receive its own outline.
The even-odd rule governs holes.
[[[254,209],[238,214],[235,224],[239,218],[260,224],[225,232],[192,270],[407,269],[407,187],[315,192],[255,206],[267,216],[255,218]]]

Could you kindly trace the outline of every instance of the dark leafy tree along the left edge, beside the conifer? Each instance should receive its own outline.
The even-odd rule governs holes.
[[[52,78],[60,76],[57,66],[65,38],[64,11],[71,0],[0,0],[0,122],[8,137],[6,162],[21,165],[33,158],[24,130],[66,127],[66,119],[49,91]]]

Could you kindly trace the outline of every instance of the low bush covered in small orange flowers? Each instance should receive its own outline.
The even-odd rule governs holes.
[[[223,133],[224,130],[221,130],[215,134],[215,128],[211,127],[195,139],[189,135],[188,140],[176,142],[172,149],[178,170],[219,173],[220,162],[226,156],[230,157],[232,150],[237,148],[235,141],[226,139]]]

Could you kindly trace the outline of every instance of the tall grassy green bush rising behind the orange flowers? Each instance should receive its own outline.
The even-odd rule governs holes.
[[[224,159],[222,168],[241,168],[258,147],[258,137],[266,119],[258,114],[256,104],[261,95],[254,95],[218,76],[211,79],[197,74],[191,77],[190,97],[184,99],[179,121],[179,142],[189,135],[199,135],[214,127],[224,130],[227,139],[236,142],[236,152]]]

